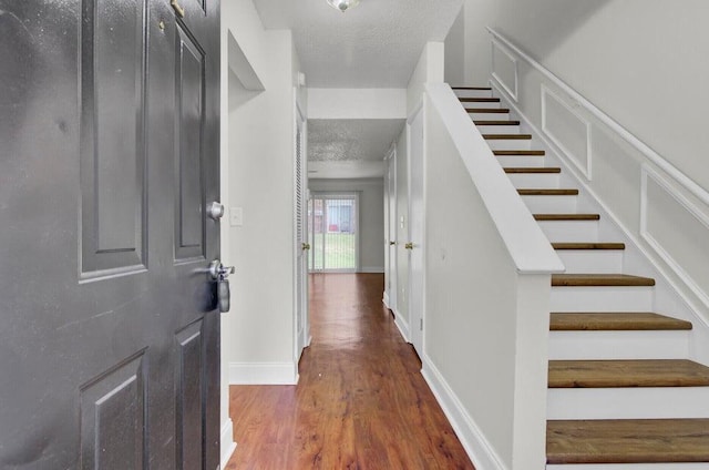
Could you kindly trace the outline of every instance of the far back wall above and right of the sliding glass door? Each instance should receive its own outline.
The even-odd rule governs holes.
[[[360,272],[384,272],[384,181],[309,180],[310,192],[359,193]]]

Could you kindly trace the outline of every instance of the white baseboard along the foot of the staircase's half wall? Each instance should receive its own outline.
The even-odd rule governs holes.
[[[424,354],[422,359],[423,369],[421,374],[431,391],[435,396],[443,412],[451,422],[453,430],[458,435],[465,452],[477,469],[484,470],[506,470],[502,459],[492,448],[485,436],[480,430],[475,421],[467,413],[460,399],[448,385],[439,369],[431,362]]]

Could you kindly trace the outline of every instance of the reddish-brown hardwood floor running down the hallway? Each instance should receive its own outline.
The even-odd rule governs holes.
[[[298,386],[232,386],[226,469],[473,469],[381,303],[380,274],[310,276]]]

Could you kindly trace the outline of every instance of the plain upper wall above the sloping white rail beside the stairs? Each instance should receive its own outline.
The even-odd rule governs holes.
[[[467,0],[466,59],[474,65],[466,80],[490,76],[484,25],[492,25],[709,187],[709,166],[697,157],[709,153],[708,18],[702,0],[676,9],[644,0]]]

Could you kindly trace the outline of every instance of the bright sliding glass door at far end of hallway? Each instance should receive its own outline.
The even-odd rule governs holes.
[[[308,201],[310,273],[359,270],[359,195],[314,193]]]

